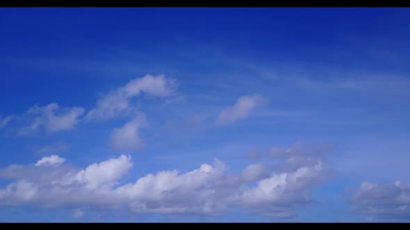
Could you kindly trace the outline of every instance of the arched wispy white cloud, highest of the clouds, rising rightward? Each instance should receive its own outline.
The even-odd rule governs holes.
[[[130,104],[131,98],[139,96],[142,92],[154,97],[167,97],[172,95],[176,87],[177,82],[173,78],[147,74],[143,78],[129,81],[98,100],[96,107],[91,109],[85,118],[88,121],[105,121],[115,116],[136,112]]]

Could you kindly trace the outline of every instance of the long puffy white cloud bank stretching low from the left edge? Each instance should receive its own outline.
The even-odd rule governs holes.
[[[54,159],[54,160],[53,160]],[[121,155],[85,169],[59,164],[58,156],[43,158],[41,166],[12,165],[0,169],[0,177],[15,179],[0,189],[0,205],[37,204],[57,207],[98,206],[135,213],[197,213],[218,215],[236,207],[261,215],[289,218],[311,202],[312,189],[328,177],[325,161],[296,170],[272,171],[261,164],[247,166],[238,174],[227,172],[215,159],[188,172],[165,170],[123,182],[133,166]],[[44,196],[44,194],[47,194]]]

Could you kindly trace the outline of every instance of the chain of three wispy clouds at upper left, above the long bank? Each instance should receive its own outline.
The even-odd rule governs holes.
[[[131,98],[139,96],[141,93],[154,97],[172,96],[177,87],[177,81],[172,78],[165,78],[164,75],[151,76],[147,74],[142,78],[135,78],[129,81],[123,87],[111,91],[106,96],[97,101],[95,108],[90,109],[85,114],[85,109],[81,107],[60,107],[57,103],[39,106],[33,105],[22,116],[11,115],[6,118],[0,117],[0,128],[5,127],[13,119],[23,124],[17,129],[20,136],[35,134],[54,133],[63,130],[72,130],[80,121],[81,116],[85,114],[84,121],[106,121],[115,116],[130,114],[136,115],[136,107],[130,103]],[[112,139],[119,139],[119,136],[125,136],[126,141],[120,149],[136,149],[133,145],[138,142],[139,127],[145,126],[138,115],[133,121],[126,123],[124,127],[114,130]],[[134,130],[134,131],[133,131]],[[127,135],[130,134],[130,135]],[[116,137],[117,136],[117,137]],[[113,141],[114,145],[122,145],[119,141]],[[139,148],[139,147],[138,147]]]

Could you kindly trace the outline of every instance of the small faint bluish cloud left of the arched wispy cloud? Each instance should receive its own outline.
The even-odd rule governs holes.
[[[44,107],[34,105],[24,115],[28,123],[18,130],[18,134],[26,136],[45,131],[47,133],[71,130],[79,123],[79,116],[84,113],[81,107],[63,107],[50,103]]]

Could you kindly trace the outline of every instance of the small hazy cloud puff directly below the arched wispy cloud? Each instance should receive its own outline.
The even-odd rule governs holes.
[[[116,128],[111,132],[110,143],[117,150],[136,151],[144,146],[144,141],[140,137],[140,128],[147,127],[144,114],[138,114],[136,118],[129,121],[124,126]]]

